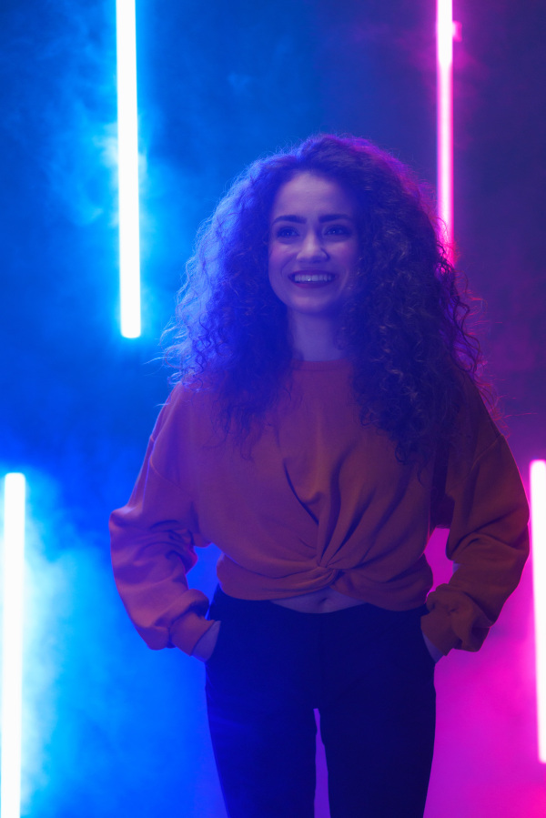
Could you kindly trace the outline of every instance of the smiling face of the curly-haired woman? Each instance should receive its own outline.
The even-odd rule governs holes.
[[[335,319],[359,264],[356,203],[334,179],[300,173],[278,189],[269,219],[269,282],[292,319]]]

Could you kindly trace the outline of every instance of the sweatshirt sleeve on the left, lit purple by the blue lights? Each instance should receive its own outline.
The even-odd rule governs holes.
[[[162,473],[164,453],[179,456],[185,431],[177,403],[171,395],[157,419],[131,497],[110,517],[110,538],[117,590],[136,630],[154,650],[176,646],[191,653],[212,621],[205,619],[207,597],[186,580],[197,561],[195,546],[207,545],[189,482]]]

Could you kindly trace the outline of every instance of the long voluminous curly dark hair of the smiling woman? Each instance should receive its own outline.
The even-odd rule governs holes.
[[[339,344],[353,364],[361,421],[388,433],[401,462],[426,462],[439,435],[452,434],[461,373],[478,381],[480,343],[465,328],[466,288],[423,187],[359,137],[310,136],[235,180],[187,262],[164,334],[171,380],[213,389],[223,429],[239,439],[275,406],[292,348],[287,308],[268,281],[268,222],[279,187],[302,172],[336,180],[357,203],[359,269]]]

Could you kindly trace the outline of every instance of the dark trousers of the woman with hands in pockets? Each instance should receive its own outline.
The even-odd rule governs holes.
[[[315,708],[331,818],[422,818],[436,714],[425,612],[300,613],[217,589],[207,708],[229,818],[312,818]]]

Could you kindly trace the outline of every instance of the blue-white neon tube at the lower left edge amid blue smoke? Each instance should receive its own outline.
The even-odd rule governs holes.
[[[19,818],[21,814],[21,718],[23,710],[25,475],[6,474],[4,485],[0,814],[2,818]]]

